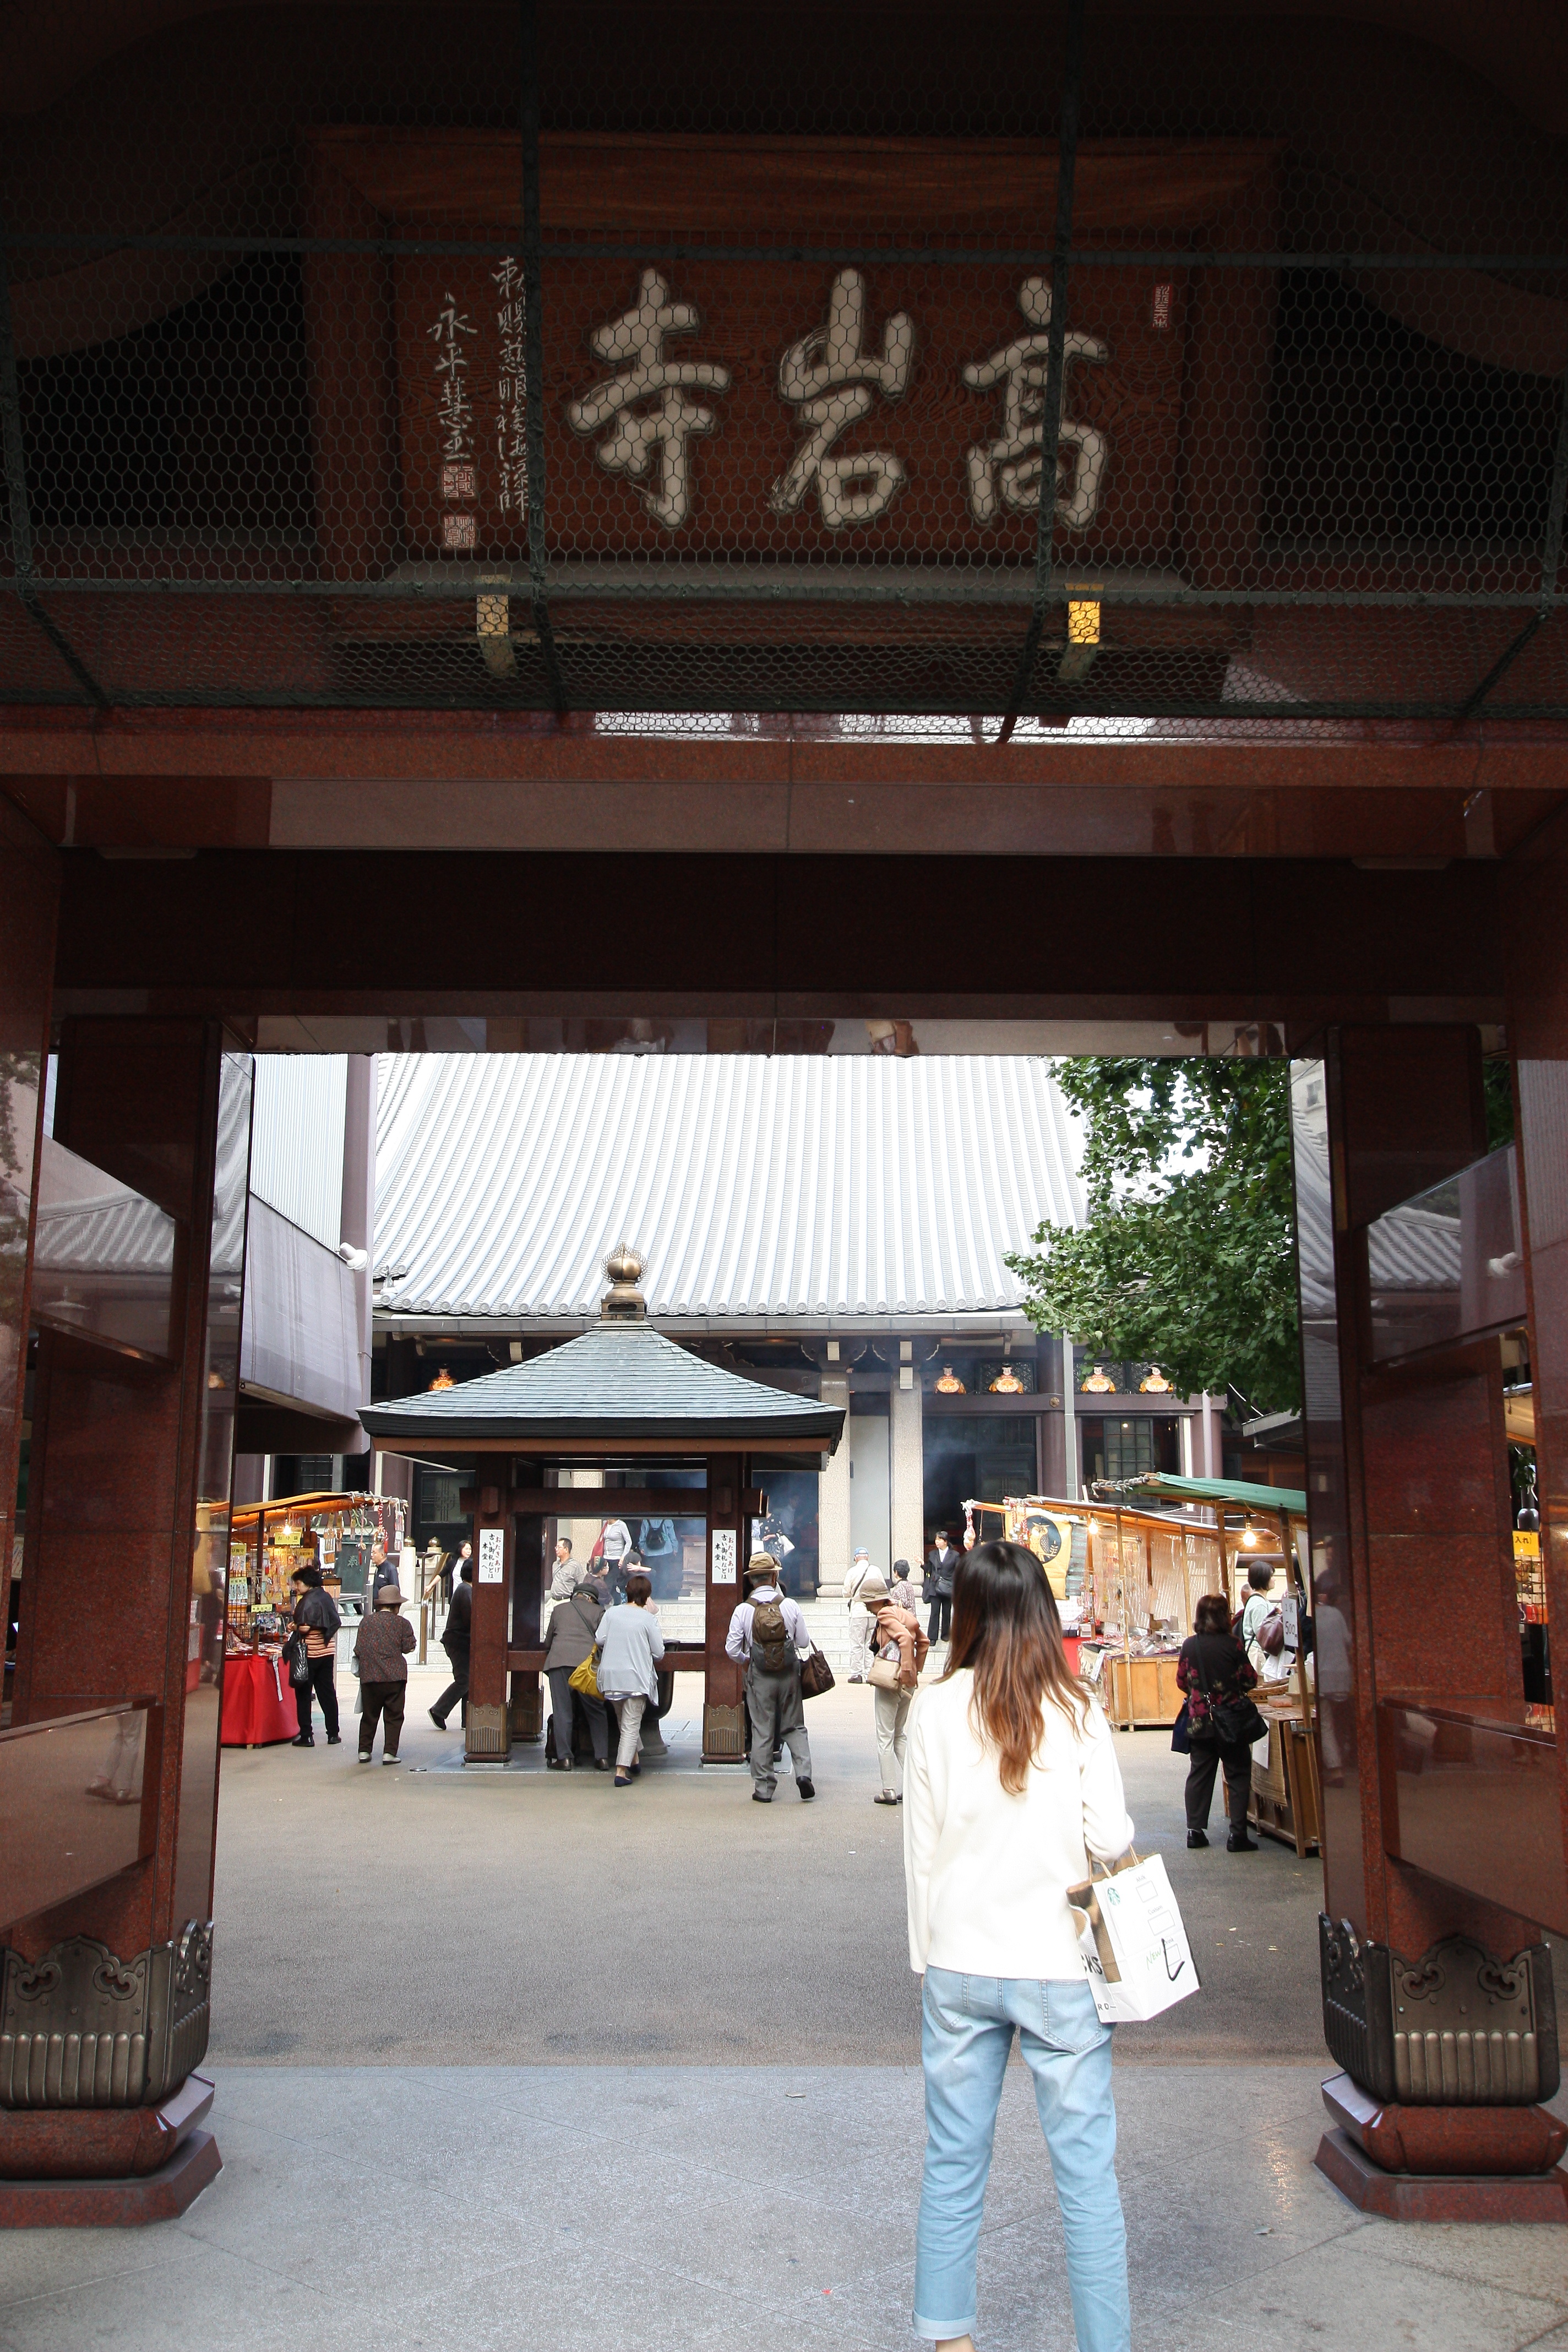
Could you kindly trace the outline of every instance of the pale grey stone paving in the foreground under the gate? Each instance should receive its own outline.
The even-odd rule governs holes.
[[[219,2067],[179,2223],[0,2244],[2,2352],[905,2352],[914,2067]],[[1568,2347],[1568,2232],[1366,2223],[1312,2171],[1319,2067],[1128,2065],[1138,2352]],[[1013,2067],[983,2352],[1070,2352]]]

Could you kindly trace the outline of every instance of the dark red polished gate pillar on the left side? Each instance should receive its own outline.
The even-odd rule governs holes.
[[[73,1021],[61,1040],[56,1138],[153,1200],[176,1240],[167,1357],[59,1331],[38,1348],[12,1719],[31,1726],[127,1698],[153,1712],[139,1858],[2,1933],[7,2032],[33,2046],[59,2034],[61,2051],[92,2032],[101,2058],[106,2037],[115,2051],[125,2037],[132,2056],[125,2070],[103,2058],[96,2084],[68,2063],[26,2084],[12,2070],[0,2084],[9,2180],[143,2176],[209,2103],[186,2077],[207,2049],[212,1978],[249,1087],[249,1056],[226,1051],[214,1021]],[[59,1792],[78,1795],[80,1783]],[[7,1830],[47,1832],[47,1818]],[[212,2171],[216,2150],[202,2145]],[[195,2194],[190,2152],[174,2161]],[[92,2218],[167,2209],[165,2197]]]

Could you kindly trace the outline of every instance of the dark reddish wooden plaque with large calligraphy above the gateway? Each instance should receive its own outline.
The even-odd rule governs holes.
[[[517,235],[510,134],[306,139],[320,235]],[[1267,141],[1079,151],[1056,560],[1086,593],[1229,586],[1246,560],[1274,280],[1150,249],[1267,247],[1274,191]],[[545,136],[545,524],[564,635],[783,644],[959,626],[1016,642],[1053,202],[1056,160],[1034,141]],[[1095,247],[1140,256],[1095,266]],[[397,517],[402,576],[522,586],[520,275],[508,252],[409,252],[371,294],[360,261],[308,261],[336,576],[367,576],[369,513]],[[371,626],[475,621],[433,600],[374,621],[360,607],[353,628]],[[1117,626],[1220,656],[1227,637],[1192,612],[1128,607]]]

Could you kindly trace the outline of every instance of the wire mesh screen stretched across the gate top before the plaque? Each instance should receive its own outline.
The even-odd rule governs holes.
[[[1434,45],[240,7],[0,169],[9,701],[1568,710],[1561,141]]]

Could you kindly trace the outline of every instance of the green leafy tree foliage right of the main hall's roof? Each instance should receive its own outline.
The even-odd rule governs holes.
[[[1009,1265],[1030,1322],[1157,1362],[1178,1395],[1300,1402],[1291,1075],[1284,1061],[1070,1061],[1088,1223]]]

